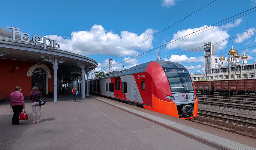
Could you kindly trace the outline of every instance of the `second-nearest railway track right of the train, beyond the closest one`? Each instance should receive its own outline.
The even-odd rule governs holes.
[[[198,101],[199,104],[207,104],[207,105],[213,105],[213,106],[220,106],[220,107],[229,107],[234,109],[244,109],[244,110],[252,110],[255,111],[255,106],[246,106],[246,105],[237,105],[237,104],[228,104],[228,103],[217,103],[217,102],[211,102],[211,101]]]

